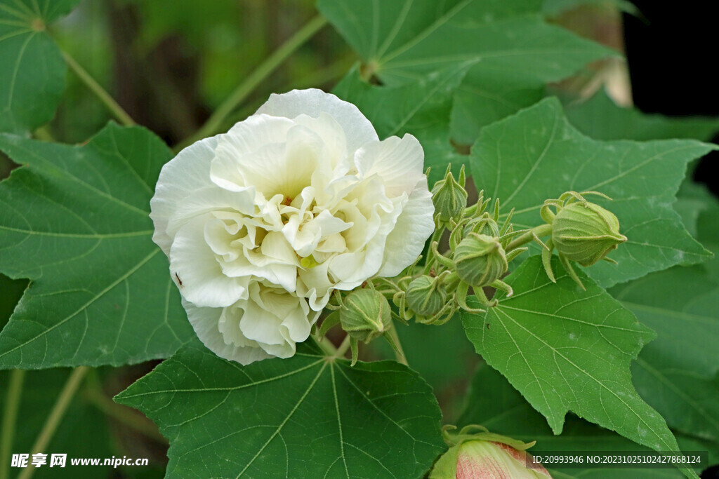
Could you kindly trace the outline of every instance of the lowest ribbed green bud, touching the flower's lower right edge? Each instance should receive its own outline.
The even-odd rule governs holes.
[[[390,304],[374,289],[356,289],[344,299],[339,322],[351,338],[369,343],[392,326]]]

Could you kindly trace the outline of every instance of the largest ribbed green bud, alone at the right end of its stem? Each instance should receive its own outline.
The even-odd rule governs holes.
[[[619,233],[619,220],[612,212],[594,203],[571,203],[552,221],[551,241],[565,258],[591,266],[627,237]]]

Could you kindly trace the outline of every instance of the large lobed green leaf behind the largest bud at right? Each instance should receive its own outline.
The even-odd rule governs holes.
[[[675,264],[705,261],[697,243],[672,209],[687,162],[716,149],[692,140],[595,141],[564,117],[556,98],[547,98],[482,130],[470,164],[477,190],[516,208],[516,228],[542,223],[544,200],[567,190],[596,190],[591,197],[619,218],[629,240],[610,254],[618,265],[600,262],[587,269],[603,287]]]

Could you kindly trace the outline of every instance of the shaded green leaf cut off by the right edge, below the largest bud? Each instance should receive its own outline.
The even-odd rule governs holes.
[[[719,440],[719,284],[675,267],[610,292],[658,336],[632,368],[639,393],[674,429]]]

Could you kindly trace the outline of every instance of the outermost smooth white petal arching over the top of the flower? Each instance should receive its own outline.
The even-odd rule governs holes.
[[[342,126],[349,152],[354,152],[368,141],[378,139],[375,128],[357,106],[315,88],[270,95],[267,103],[257,110],[257,113],[285,118],[297,118],[300,115],[319,118],[322,112],[329,113]]]

